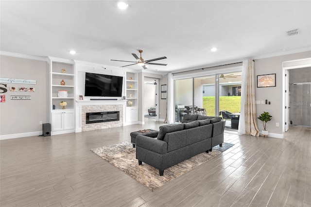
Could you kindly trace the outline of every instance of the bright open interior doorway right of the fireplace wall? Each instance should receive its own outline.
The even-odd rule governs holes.
[[[144,119],[158,121],[158,90],[159,79],[144,78]]]

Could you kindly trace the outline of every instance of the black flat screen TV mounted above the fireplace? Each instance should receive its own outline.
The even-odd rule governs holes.
[[[86,72],[85,96],[122,96],[123,77]]]

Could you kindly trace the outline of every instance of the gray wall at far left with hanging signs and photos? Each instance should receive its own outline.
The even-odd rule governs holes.
[[[36,80],[36,85],[7,84],[5,103],[0,103],[0,135],[42,131],[49,122],[49,65],[45,61],[0,55],[0,77]],[[2,87],[3,85],[1,85]],[[10,87],[35,87],[35,92],[10,91]],[[1,90],[2,92],[2,90]],[[10,100],[10,96],[31,96],[31,100]]]

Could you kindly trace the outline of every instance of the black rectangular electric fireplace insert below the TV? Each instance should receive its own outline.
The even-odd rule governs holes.
[[[120,111],[106,111],[86,113],[86,123],[99,123],[106,121],[119,121]]]

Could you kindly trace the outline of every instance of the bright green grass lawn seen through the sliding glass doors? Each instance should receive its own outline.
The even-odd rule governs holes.
[[[207,116],[215,115],[215,97],[203,97],[203,108],[206,109]],[[219,111],[225,110],[231,113],[240,112],[241,96],[220,96]],[[217,114],[219,116],[219,114]]]

